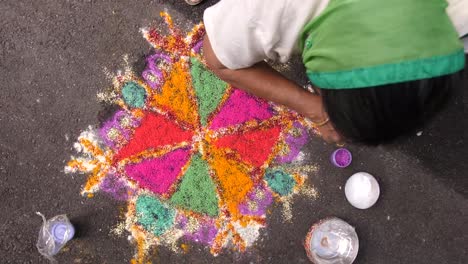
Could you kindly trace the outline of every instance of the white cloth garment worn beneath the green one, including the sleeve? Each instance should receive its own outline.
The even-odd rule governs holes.
[[[468,0],[447,0],[460,37],[468,34]],[[287,62],[298,51],[299,34],[329,0],[221,0],[205,10],[206,32],[218,60],[229,69],[262,60]],[[468,52],[468,37],[464,39]]]

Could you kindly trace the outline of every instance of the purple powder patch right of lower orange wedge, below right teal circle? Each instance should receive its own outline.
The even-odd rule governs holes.
[[[247,194],[246,200],[239,205],[239,211],[244,215],[262,216],[273,202],[271,192],[257,186]]]

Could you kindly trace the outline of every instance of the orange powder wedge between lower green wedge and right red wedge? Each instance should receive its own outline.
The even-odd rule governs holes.
[[[227,158],[224,151],[213,148],[210,165],[220,186],[222,201],[235,219],[239,215],[238,205],[253,187],[248,171],[238,161]]]

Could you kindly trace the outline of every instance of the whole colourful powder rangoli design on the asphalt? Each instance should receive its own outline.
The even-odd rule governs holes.
[[[90,174],[84,195],[100,190],[128,201],[135,263],[150,246],[178,251],[180,241],[203,243],[214,255],[243,251],[274,200],[307,189],[306,175],[280,166],[307,142],[307,123],[217,79],[201,54],[203,25],[184,37],[162,16],[170,35],[143,30],[155,53],[141,78],[130,69],[113,77],[101,97],[120,110],[80,135],[81,156],[66,169]]]

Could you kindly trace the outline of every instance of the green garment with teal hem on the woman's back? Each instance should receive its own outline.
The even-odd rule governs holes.
[[[463,69],[446,7],[445,0],[331,0],[301,33],[309,79],[322,89],[353,89]]]

